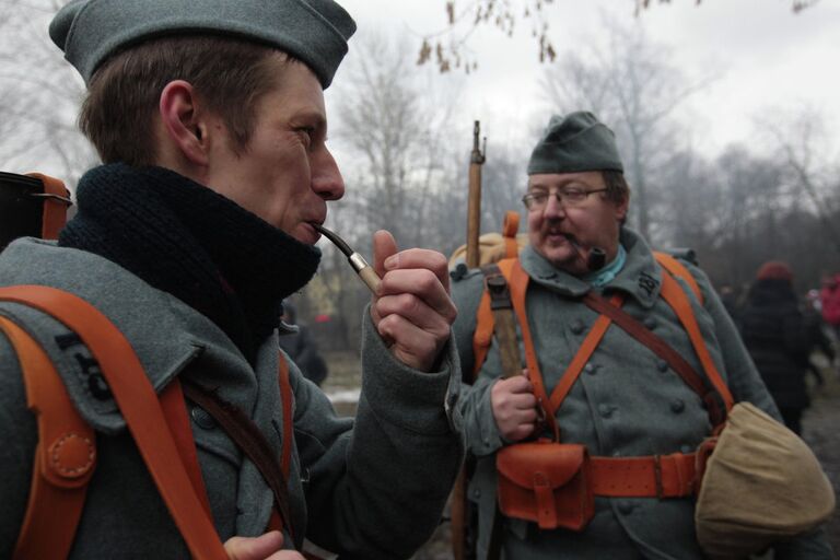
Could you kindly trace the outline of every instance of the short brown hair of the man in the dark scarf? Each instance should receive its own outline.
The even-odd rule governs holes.
[[[205,106],[222,118],[243,152],[254,131],[259,98],[279,84],[269,62],[285,52],[252,40],[214,35],[161,37],[117,52],[91,79],[79,127],[104,163],[152,165],[158,156],[152,127],[167,83],[192,84]]]

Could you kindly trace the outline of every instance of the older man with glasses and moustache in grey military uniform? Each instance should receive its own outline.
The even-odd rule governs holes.
[[[612,131],[591,113],[552,117],[528,163],[529,245],[483,275],[453,272],[462,369],[476,375],[460,407],[477,457],[467,495],[478,558],[705,557],[691,481],[719,419],[715,399],[698,394],[707,364],[661,294],[666,281],[690,302],[698,345],[732,398],[779,418],[707,276],[626,228],[629,201]],[[486,290],[485,277],[498,288],[500,273],[509,290]],[[689,386],[593,301],[623,310],[702,382]],[[492,337],[483,328],[491,310],[511,307],[518,362],[502,355],[499,327]],[[775,547],[777,559],[830,557],[821,534]]]

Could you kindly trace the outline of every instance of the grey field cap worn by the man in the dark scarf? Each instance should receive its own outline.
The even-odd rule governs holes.
[[[52,42],[85,83],[127,46],[202,32],[283,50],[306,63],[326,89],[355,22],[332,0],[72,0],[49,25]]]

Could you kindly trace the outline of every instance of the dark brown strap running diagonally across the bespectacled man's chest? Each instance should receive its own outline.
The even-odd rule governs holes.
[[[584,295],[583,303],[591,308],[604,315],[609,315],[612,320],[621,327],[628,335],[637,339],[642,345],[650,348],[656,355],[665,360],[670,368],[677,372],[682,381],[697,393],[700,398],[705,402],[707,410],[709,411],[712,425],[719,425],[726,417],[725,411],[721,410],[718,405],[718,400],[714,397],[714,393],[709,390],[703,383],[702,377],[691,368],[676,350],[670,348],[667,342],[660,337],[651,332],[644,325],[639,323],[635,318],[628,315],[625,311],[615,307],[607,302],[604,298],[590,291]],[[721,416],[723,413],[723,416]]]

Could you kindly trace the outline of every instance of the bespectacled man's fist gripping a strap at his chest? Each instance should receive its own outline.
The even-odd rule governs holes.
[[[490,389],[490,406],[499,433],[505,440],[516,442],[534,432],[537,422],[537,398],[534,396],[534,385],[527,376],[495,382]]]

